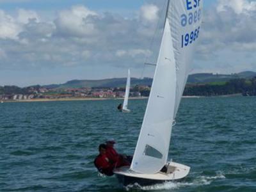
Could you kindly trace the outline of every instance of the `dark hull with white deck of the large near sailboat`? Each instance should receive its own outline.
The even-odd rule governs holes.
[[[189,173],[190,167],[184,164],[170,162],[168,163],[168,170],[166,173],[158,172],[156,174],[142,174],[130,170],[129,166],[118,168],[114,170],[116,177],[123,182],[124,186],[129,184],[156,184],[172,180],[180,180],[186,177]]]

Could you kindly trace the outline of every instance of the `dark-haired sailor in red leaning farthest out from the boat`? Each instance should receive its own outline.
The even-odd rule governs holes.
[[[108,176],[114,175],[113,169],[115,168],[115,163],[112,163],[108,156],[106,155],[106,144],[99,145],[99,156],[94,160],[95,167],[99,170],[100,173]]]

